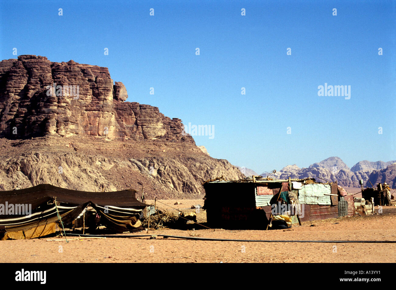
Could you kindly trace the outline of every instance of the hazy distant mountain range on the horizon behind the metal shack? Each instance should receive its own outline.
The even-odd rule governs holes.
[[[247,170],[245,168],[246,172]],[[363,179],[364,186],[371,187],[371,183],[375,185],[386,182],[392,188],[396,188],[396,160],[388,162],[363,160],[349,168],[341,158],[333,156],[314,163],[308,168],[299,168],[293,164],[285,166],[276,173],[263,172],[260,175],[278,179],[313,177],[322,182],[337,181],[339,185],[345,187],[360,187],[359,180]]]

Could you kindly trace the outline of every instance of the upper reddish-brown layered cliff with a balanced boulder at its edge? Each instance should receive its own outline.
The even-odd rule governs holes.
[[[166,139],[194,143],[183,136],[180,119],[157,107],[124,102],[121,82],[113,85],[104,67],[51,62],[21,55],[0,62],[0,136],[10,139],[92,135],[110,139]]]

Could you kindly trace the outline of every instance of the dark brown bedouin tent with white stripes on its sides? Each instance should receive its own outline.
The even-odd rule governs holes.
[[[139,216],[146,205],[135,198],[135,193],[133,189],[86,192],[49,184],[2,191],[0,239],[32,239],[52,234],[59,222],[58,215],[63,224],[68,224],[88,205],[100,215],[101,223],[114,232],[142,230]]]

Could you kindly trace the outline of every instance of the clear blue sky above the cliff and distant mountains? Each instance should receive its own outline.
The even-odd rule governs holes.
[[[257,173],[330,156],[351,167],[396,160],[395,7],[395,1],[0,1],[0,56],[16,58],[16,47],[18,55],[108,67],[126,86],[127,101],[156,106],[184,124],[214,125],[214,138],[194,136],[196,144]],[[318,96],[325,83],[350,85],[350,99]]]

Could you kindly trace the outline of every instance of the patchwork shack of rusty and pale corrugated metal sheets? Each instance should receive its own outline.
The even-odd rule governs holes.
[[[337,182],[252,177],[236,181],[209,180],[204,183],[204,188],[208,224],[217,228],[267,228],[271,217],[270,201],[279,192],[298,196],[303,210],[300,221],[354,215],[353,196],[347,195]],[[296,215],[294,222],[298,222]]]

